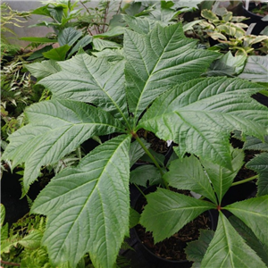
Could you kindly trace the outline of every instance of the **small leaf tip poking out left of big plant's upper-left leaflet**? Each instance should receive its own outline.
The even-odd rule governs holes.
[[[26,68],[37,79],[43,79],[46,76],[61,71],[60,65],[53,60],[27,64]]]

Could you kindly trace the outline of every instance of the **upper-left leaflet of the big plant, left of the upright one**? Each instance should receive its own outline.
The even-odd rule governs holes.
[[[39,82],[50,89],[54,97],[92,103],[114,116],[126,116],[123,63],[77,54],[59,65],[63,71]]]

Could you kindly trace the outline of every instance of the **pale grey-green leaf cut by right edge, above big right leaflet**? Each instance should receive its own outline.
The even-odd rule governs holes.
[[[268,55],[247,57],[244,71],[239,75],[240,78],[255,82],[267,82]]]

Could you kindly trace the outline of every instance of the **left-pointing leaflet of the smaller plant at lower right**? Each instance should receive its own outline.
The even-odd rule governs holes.
[[[141,214],[140,223],[147,230],[153,231],[155,243],[171,237],[199,214],[215,208],[212,203],[163,188],[147,195],[147,203]]]

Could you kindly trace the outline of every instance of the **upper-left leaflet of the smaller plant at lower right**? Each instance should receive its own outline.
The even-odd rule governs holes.
[[[172,161],[163,178],[172,187],[192,190],[217,204],[214,189],[194,155]]]

